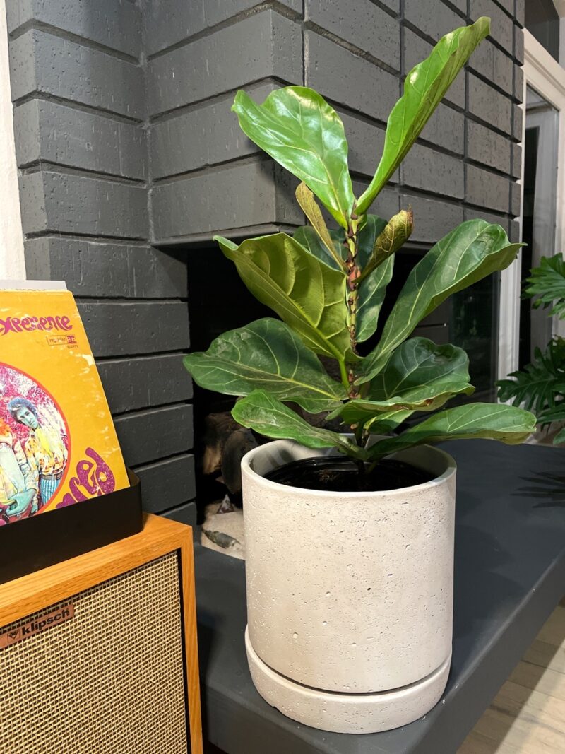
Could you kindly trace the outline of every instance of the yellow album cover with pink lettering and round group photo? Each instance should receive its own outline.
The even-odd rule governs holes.
[[[72,293],[0,291],[0,526],[127,486]]]

